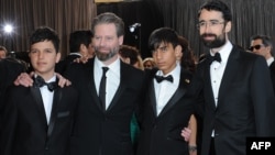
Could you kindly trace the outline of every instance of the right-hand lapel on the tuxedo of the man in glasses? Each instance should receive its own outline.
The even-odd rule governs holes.
[[[232,52],[229,55],[228,64],[226,66],[220,89],[219,89],[219,100],[222,99],[224,96],[227,96],[227,90],[229,89],[229,86],[232,84],[231,81],[234,79],[234,75],[238,71],[238,66],[240,66],[240,62],[238,60],[240,53],[239,49],[233,47]],[[219,108],[222,104],[222,102],[218,103]]]

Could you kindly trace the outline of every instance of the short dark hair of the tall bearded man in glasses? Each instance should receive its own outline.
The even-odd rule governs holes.
[[[210,10],[219,11],[222,13],[222,16],[226,21],[232,21],[231,10],[224,2],[220,0],[210,0],[204,3],[198,11],[198,18],[200,16],[201,10],[204,9],[208,11]]]

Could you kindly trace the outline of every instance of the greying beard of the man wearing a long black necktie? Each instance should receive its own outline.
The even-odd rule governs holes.
[[[102,47],[95,46],[95,54],[98,57],[98,59],[102,62],[112,58],[114,55],[119,53],[119,47],[110,48],[109,53],[101,53],[100,48]]]

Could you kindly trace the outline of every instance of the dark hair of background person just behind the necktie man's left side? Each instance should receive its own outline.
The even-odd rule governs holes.
[[[69,34],[69,52],[79,52],[79,47],[84,44],[86,47],[91,43],[92,33],[90,30],[78,30]]]

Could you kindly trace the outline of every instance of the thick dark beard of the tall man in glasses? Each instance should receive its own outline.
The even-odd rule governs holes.
[[[215,40],[213,41],[207,41],[205,40],[206,36],[213,36]],[[227,40],[226,40],[226,33],[217,36],[216,34],[212,33],[205,33],[202,35],[200,35],[205,46],[209,47],[209,48],[218,48],[221,47],[226,44]]]

